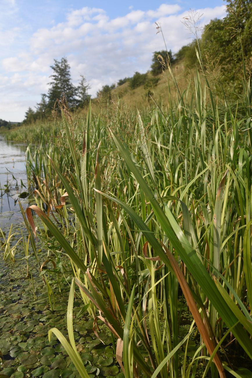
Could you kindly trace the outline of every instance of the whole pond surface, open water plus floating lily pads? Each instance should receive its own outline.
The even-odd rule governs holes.
[[[26,207],[29,202],[25,194],[28,190],[25,151],[24,143],[6,141],[0,136],[0,228],[8,235],[11,223],[14,224],[12,232],[17,235],[12,243],[17,242],[21,231],[26,233],[18,204],[20,200]],[[39,257],[41,262],[48,259],[47,253],[41,250]],[[43,269],[50,269],[47,264],[43,265]],[[32,254],[29,255],[29,266],[36,299],[22,243],[17,246],[15,262],[4,261],[3,250],[0,250],[0,377],[80,377],[56,336],[52,336],[50,342],[48,339],[48,331],[53,327],[60,329],[67,338],[68,281],[71,282],[71,277],[67,277],[67,272],[64,272],[66,276],[61,275],[61,280],[48,276],[53,290],[52,309],[46,284]],[[74,301],[75,318],[82,308],[81,304],[80,299]],[[75,319],[77,350],[90,378],[122,377],[111,337],[107,328],[101,329],[104,332],[99,333],[99,340],[93,332],[93,319]]]

